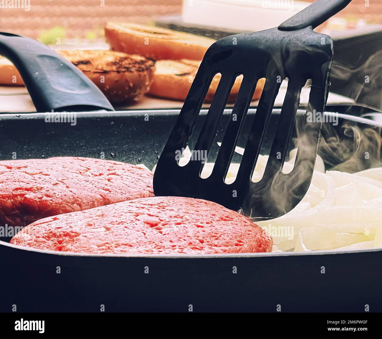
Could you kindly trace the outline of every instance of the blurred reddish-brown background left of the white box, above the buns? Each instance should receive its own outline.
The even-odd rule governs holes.
[[[153,22],[180,14],[182,0],[31,0],[23,8],[0,10],[1,31],[47,39],[49,31],[70,39],[99,39],[106,21]]]

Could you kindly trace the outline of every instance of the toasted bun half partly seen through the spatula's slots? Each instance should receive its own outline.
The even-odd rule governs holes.
[[[155,64],[156,70],[154,81],[150,87],[149,94],[174,100],[184,101],[194,80],[196,72],[199,68],[200,61],[194,60],[159,60]],[[233,103],[239,92],[241,80],[243,76],[236,78],[233,84],[228,103]],[[211,102],[214,98],[217,86],[220,81],[220,74],[212,79],[210,88],[207,92],[205,102]],[[257,82],[256,90],[252,100],[257,100],[261,96],[265,79],[262,78]]]

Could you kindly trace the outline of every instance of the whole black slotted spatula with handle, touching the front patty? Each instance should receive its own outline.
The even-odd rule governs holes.
[[[333,58],[332,39],[313,29],[345,8],[350,1],[318,0],[278,27],[231,35],[212,44],[204,55],[160,155],[154,174],[155,195],[215,201],[229,209],[242,210],[244,215],[255,220],[276,218],[293,209],[311,182],[322,120],[308,119],[308,115],[324,112]],[[206,157],[191,157],[185,166],[180,166],[176,155],[186,147],[209,85],[217,73],[221,73],[221,79],[193,154],[208,154],[231,87],[238,75],[243,74],[243,80],[212,174],[201,178]],[[237,177],[233,183],[227,184],[225,176],[236,142],[257,81],[263,77],[266,79],[264,90]],[[251,176],[280,88],[280,79],[285,78],[288,78],[288,88],[269,159],[262,179],[253,182]],[[299,130],[295,165],[289,174],[283,174],[282,166],[295,124],[301,88],[309,79],[312,85],[306,119]]]

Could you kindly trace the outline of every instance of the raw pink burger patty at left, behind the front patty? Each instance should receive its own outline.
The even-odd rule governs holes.
[[[153,196],[152,174],[123,162],[79,157],[0,161],[0,224]]]

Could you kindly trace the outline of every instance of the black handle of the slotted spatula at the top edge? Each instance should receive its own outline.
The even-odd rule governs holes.
[[[309,26],[316,28],[334,14],[343,10],[350,2],[351,0],[317,0],[284,21],[278,26],[278,29],[280,31],[295,31]]]

